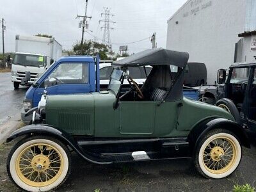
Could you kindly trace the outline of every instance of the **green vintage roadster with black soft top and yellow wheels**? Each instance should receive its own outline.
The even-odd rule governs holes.
[[[243,128],[227,111],[183,97],[189,55],[149,49],[115,61],[108,91],[44,95],[33,125],[7,162],[10,178],[26,191],[57,188],[70,174],[70,150],[97,164],[192,157],[199,173],[220,179],[234,172],[250,147]],[[151,65],[140,88],[128,67]],[[131,84],[125,91],[124,79]],[[47,90],[47,88],[46,88]]]

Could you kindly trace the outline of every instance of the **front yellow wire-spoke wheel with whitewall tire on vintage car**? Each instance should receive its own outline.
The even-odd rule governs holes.
[[[9,177],[26,191],[56,189],[70,175],[68,148],[55,138],[32,136],[20,140],[7,159]]]

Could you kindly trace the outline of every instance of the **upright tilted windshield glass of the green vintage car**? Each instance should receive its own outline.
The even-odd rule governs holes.
[[[109,85],[108,85],[108,89],[112,90],[113,92],[115,92],[115,95],[118,93],[118,90],[120,88],[120,84],[121,84],[121,77],[123,75],[122,70],[118,69],[118,68],[114,68],[111,76],[110,76],[110,81],[109,81]]]

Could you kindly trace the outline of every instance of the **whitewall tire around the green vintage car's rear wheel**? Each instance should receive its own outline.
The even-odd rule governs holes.
[[[234,155],[234,161],[230,161],[231,163],[229,164],[224,164],[223,160],[225,157],[222,157],[223,159],[221,159],[221,157],[218,156],[213,156],[213,157],[217,157],[219,158],[218,161],[216,159],[217,162],[222,163],[223,165],[223,170],[221,171],[218,170],[219,166],[217,169],[213,169],[211,168],[211,166],[209,166],[210,169],[207,169],[207,165],[205,163],[209,163],[208,159],[212,159],[212,156],[205,156],[205,150],[207,150],[206,148],[210,145],[215,144],[216,140],[220,140],[221,136],[223,136],[223,138],[228,138],[228,140],[232,141],[234,144],[234,150],[236,150],[236,152],[233,153]],[[212,143],[209,141],[212,141]],[[217,142],[217,141],[216,141]],[[224,141],[225,142],[225,141]],[[205,148],[206,146],[206,148]],[[225,148],[225,145],[215,145],[216,146],[220,146],[222,148]],[[231,146],[231,145],[230,145]],[[228,148],[228,146],[226,145],[226,148]],[[230,148],[230,147],[229,147]],[[208,149],[209,150],[209,149]],[[212,150],[214,150],[214,147],[211,149],[211,154],[212,154]],[[204,153],[202,153],[202,151]],[[223,150],[223,154],[225,154],[225,152],[227,152],[228,150]],[[230,154],[230,152],[227,152],[227,154]],[[225,156],[225,155],[224,155]],[[230,155],[227,155],[230,156]],[[226,156],[226,158],[227,158]],[[195,148],[195,156],[194,156],[194,163],[195,163],[195,167],[196,170],[198,171],[198,173],[200,173],[202,176],[206,177],[207,179],[221,179],[224,177],[228,177],[228,175],[232,174],[237,167],[239,166],[240,162],[241,162],[241,157],[242,157],[242,147],[241,147],[241,143],[239,141],[239,138],[237,138],[236,134],[234,134],[231,131],[228,131],[227,129],[214,129],[212,131],[207,132],[204,136],[202,136],[202,138],[200,139],[198,145]],[[232,157],[233,159],[233,157]],[[223,162],[221,162],[223,161]],[[211,162],[214,162],[213,160],[211,160]],[[227,162],[227,161],[225,161]],[[217,165],[217,163],[216,163]],[[215,167],[216,167],[215,165]],[[228,167],[230,166],[230,167]],[[221,167],[220,167],[221,168]],[[216,172],[217,170],[217,172]],[[214,172],[215,171],[215,172]],[[219,171],[219,172],[218,172]]]

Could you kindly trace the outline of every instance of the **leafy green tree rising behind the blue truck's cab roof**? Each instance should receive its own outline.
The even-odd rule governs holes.
[[[92,40],[84,41],[82,45],[77,42],[75,45],[73,45],[73,51],[76,55],[95,56],[99,53],[101,60],[110,60],[110,55],[113,54],[107,45],[93,42]]]

